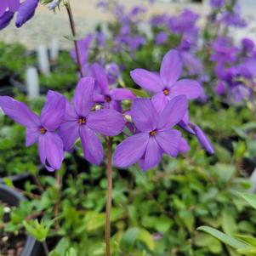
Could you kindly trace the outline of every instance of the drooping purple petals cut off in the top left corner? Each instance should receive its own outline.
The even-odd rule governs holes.
[[[9,25],[17,13],[16,26],[20,27],[30,20],[37,9],[39,0],[2,0],[0,1],[0,30]]]

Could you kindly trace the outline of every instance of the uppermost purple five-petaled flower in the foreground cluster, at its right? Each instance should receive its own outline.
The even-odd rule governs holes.
[[[185,95],[187,99],[196,99],[202,94],[201,85],[191,79],[177,81],[182,72],[182,61],[177,50],[170,50],[162,59],[160,74],[135,69],[131,71],[131,77],[141,88],[155,93],[152,100],[157,105],[158,111],[162,111],[168,100],[177,95]]]

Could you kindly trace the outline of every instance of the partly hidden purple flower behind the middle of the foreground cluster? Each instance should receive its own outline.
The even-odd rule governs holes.
[[[99,90],[94,91],[94,101],[103,103],[105,107],[121,111],[121,100],[134,100],[135,95],[127,88],[109,88],[109,83],[105,69],[98,63],[92,65],[92,75],[95,85]]]

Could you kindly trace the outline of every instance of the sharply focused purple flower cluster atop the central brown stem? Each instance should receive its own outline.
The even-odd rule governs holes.
[[[0,97],[0,106],[14,122],[26,127],[26,146],[38,144],[40,160],[49,171],[60,168],[64,152],[71,151],[78,138],[84,157],[99,165],[104,157],[99,136],[121,134],[125,125],[132,136],[117,146],[114,164],[127,168],[139,162],[140,168],[147,170],[155,167],[163,154],[176,157],[190,150],[174,129],[176,124],[195,134],[213,153],[205,134],[189,121],[188,100],[200,97],[202,87],[191,79],[179,80],[181,72],[180,54],[174,49],[164,56],[159,73],[135,69],[131,72],[134,82],[152,93],[151,99],[138,99],[127,88],[109,88],[105,69],[94,63],[92,77],[80,79],[71,102],[48,92],[41,117],[8,96]],[[130,110],[122,110],[122,100],[132,101]]]

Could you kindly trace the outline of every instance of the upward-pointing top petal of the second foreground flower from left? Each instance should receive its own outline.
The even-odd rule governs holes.
[[[77,84],[74,97],[77,114],[86,117],[94,106],[94,78],[83,77]]]

